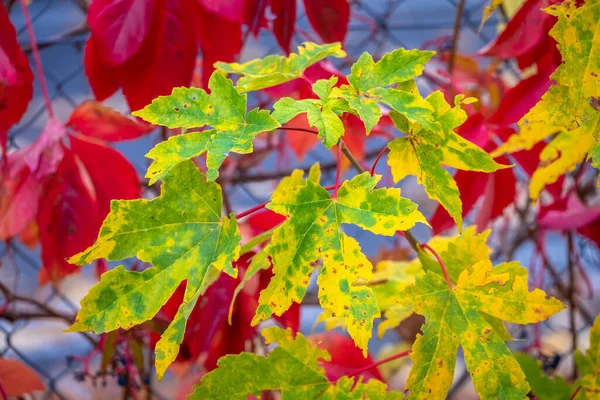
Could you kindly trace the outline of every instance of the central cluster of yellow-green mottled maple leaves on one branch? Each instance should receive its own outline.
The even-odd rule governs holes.
[[[113,202],[97,242],[70,259],[82,265],[98,258],[121,260],[136,256],[152,265],[143,272],[118,267],[105,273],[82,301],[71,330],[107,332],[141,324],[151,319],[186,281],[183,302],[156,345],[157,373],[162,377],[177,356],[186,320],[198,298],[221,271],[237,274],[232,262],[240,252],[241,235],[234,216],[221,215],[221,188],[212,182],[219,166],[229,152],[251,152],[258,134],[277,129],[300,113],[307,114],[324,145],[330,148],[344,136],[343,114],[360,117],[368,133],[381,118],[382,107],[389,107],[394,124],[404,133],[389,144],[388,162],[396,180],[407,174],[416,175],[429,196],[440,200],[461,226],[456,184],[440,164],[478,171],[494,171],[502,166],[454,132],[466,119],[461,104],[469,99],[457,96],[451,106],[440,92],[427,98],[419,94],[414,77],[422,72],[432,52],[398,49],[377,63],[363,54],[347,77],[349,85],[336,87],[335,78],[319,80],[313,84],[318,99],[282,98],[274,104],[272,113],[258,109],[247,112],[246,95],[242,93],[302,77],[308,66],[331,55],[344,55],[339,44],[305,43],[298,54],[289,57],[269,56],[245,64],[219,63],[220,70],[242,75],[236,86],[217,71],[210,78],[210,94],[202,89],[176,88],[171,96],[159,97],[135,113],[169,128],[208,125],[212,129],[175,136],[151,150],[148,156],[154,161],[148,177],[151,182],[162,179],[162,194],[150,201]],[[206,175],[189,161],[203,153],[207,153]],[[445,396],[459,345],[465,349],[476,388],[484,397],[503,391],[526,393],[528,387],[521,379],[520,368],[504,344],[509,337],[500,318],[517,323],[537,322],[558,312],[562,304],[546,299],[541,291],[529,292],[526,270],[518,264],[492,268],[485,245],[487,236],[476,236],[472,231],[456,239],[456,243],[451,241],[449,250],[441,252],[455,287],[447,285],[437,262],[422,252],[419,264],[411,267],[410,281],[405,276],[406,268],[388,269],[388,284],[375,290],[369,287],[373,267],[358,242],[343,232],[342,224],[388,236],[417,222],[427,224],[416,204],[402,198],[399,189],[377,188],[380,178],[367,172],[359,174],[336,187],[332,195],[321,186],[319,166],[315,165],[306,179],[301,171],[296,171],[280,182],[266,207],[284,216],[285,222],[274,229],[269,244],[254,257],[248,270],[250,279],[257,271],[268,268],[270,261],[274,273],[260,294],[252,323],[281,315],[293,303],[301,303],[310,274],[320,259],[320,303],[331,318],[347,327],[365,355],[373,321],[381,315],[380,310],[385,313],[384,326],[390,327],[412,312],[426,317],[424,336],[412,353],[415,367],[407,386],[412,396]],[[437,246],[435,243],[432,245]],[[397,272],[400,275],[396,278]],[[388,287],[394,282],[402,285],[400,293],[394,294],[399,287]],[[147,293],[153,295],[149,297]],[[280,341],[281,334],[273,332],[267,333],[267,339]],[[298,339],[297,343],[302,341]],[[284,359],[288,354],[284,349],[286,346],[280,341],[280,347],[266,361],[248,355],[225,358],[217,371],[241,368],[252,374],[267,368],[271,359]],[[238,362],[249,364],[241,367]],[[265,365],[248,368],[256,363]],[[315,363],[311,361],[311,365]],[[285,370],[284,364],[277,364],[273,371]],[[314,367],[308,370],[313,371]],[[274,376],[277,383],[263,374],[256,386],[244,384],[239,388],[232,383],[243,382],[239,378],[215,372],[214,378],[203,380],[199,391],[217,390],[216,396],[218,390],[229,387],[227,390],[234,390],[230,396],[235,398],[263,389],[284,389],[282,378]],[[358,386],[351,392],[351,380],[340,380],[332,386],[323,381],[322,374],[313,371],[311,376],[316,381],[309,385],[310,393],[314,390],[324,398],[336,397],[340,385],[349,396],[361,397],[369,390],[384,395],[379,386]],[[254,378],[248,377],[249,381]],[[212,379],[219,388],[211,388]],[[317,385],[317,381],[323,381],[322,385]],[[487,386],[480,383],[484,381]]]

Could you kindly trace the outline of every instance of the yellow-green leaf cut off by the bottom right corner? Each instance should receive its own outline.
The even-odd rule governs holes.
[[[590,329],[590,347],[583,355],[579,350],[575,352],[577,370],[581,374],[572,388],[581,387],[574,400],[596,400],[600,396],[600,316],[596,317]]]

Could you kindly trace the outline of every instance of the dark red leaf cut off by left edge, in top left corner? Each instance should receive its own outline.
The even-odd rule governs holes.
[[[8,130],[17,123],[33,97],[33,74],[19,47],[15,28],[0,4],[0,147],[4,153]]]

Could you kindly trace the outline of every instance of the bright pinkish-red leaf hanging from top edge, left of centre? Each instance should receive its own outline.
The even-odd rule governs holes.
[[[155,0],[94,0],[87,23],[102,60],[112,66],[133,57],[152,22]]]

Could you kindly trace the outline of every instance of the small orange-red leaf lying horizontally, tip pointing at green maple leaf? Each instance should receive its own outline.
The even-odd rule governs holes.
[[[109,142],[137,139],[153,129],[93,100],[73,110],[67,126],[85,136]]]

